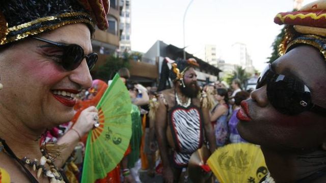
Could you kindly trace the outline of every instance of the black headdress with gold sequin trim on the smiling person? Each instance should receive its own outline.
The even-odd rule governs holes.
[[[107,28],[108,0],[0,1],[0,45],[73,23]]]

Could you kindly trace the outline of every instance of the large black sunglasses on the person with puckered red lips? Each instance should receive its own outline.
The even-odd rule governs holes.
[[[275,73],[270,64],[260,74],[256,89],[267,84],[267,98],[279,112],[295,115],[312,111],[326,115],[326,109],[311,101],[310,89],[302,82],[289,76]]]

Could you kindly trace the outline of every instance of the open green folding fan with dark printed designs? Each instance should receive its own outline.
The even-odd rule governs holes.
[[[96,106],[100,126],[88,134],[82,183],[106,177],[122,160],[131,137],[129,92],[116,74]]]

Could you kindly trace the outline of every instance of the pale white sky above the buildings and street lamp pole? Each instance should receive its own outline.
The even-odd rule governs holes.
[[[182,48],[189,2],[132,0],[131,49],[145,53],[157,40]],[[304,0],[303,5],[311,2]],[[292,9],[293,0],[194,0],[184,21],[186,51],[204,59],[205,45],[216,45],[216,56],[228,62],[231,46],[244,43],[261,71],[283,27],[274,23],[274,17]]]

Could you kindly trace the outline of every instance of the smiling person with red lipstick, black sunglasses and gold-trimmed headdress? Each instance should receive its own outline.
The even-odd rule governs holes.
[[[92,86],[91,37],[96,24],[107,28],[109,7],[107,0],[0,1],[0,167],[11,182],[67,182],[61,165],[96,124],[96,108],[80,114],[66,148],[54,146],[61,157],[40,148],[40,136],[70,121],[76,96]]]

